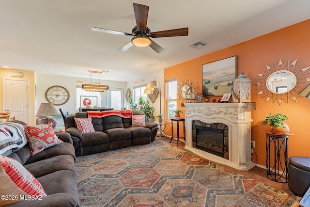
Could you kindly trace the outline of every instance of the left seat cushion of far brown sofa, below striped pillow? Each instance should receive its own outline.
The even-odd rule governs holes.
[[[80,140],[80,146],[108,143],[109,137],[105,132],[95,131],[89,134],[83,134]]]

